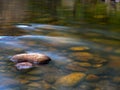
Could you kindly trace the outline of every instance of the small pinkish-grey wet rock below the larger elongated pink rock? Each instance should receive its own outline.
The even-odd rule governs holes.
[[[18,70],[30,69],[30,68],[33,67],[32,63],[29,63],[29,62],[17,63],[15,66],[16,66],[16,68],[17,68]]]

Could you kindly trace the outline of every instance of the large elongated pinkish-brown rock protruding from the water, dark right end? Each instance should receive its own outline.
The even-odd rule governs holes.
[[[14,55],[10,60],[15,63],[30,62],[33,64],[47,64],[51,59],[44,54],[23,53]]]

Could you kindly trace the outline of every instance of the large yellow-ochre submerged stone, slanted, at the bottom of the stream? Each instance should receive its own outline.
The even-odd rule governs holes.
[[[56,81],[56,85],[72,87],[78,84],[84,77],[85,77],[84,73],[72,73],[59,78]]]

